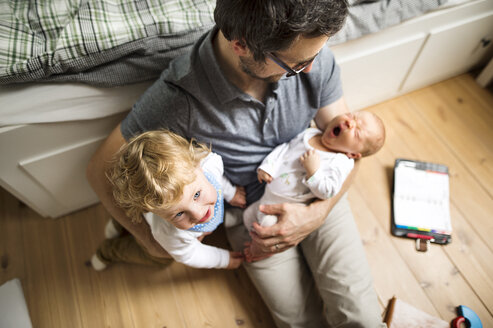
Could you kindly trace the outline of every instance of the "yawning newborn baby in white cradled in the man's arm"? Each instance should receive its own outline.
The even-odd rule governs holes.
[[[288,143],[277,146],[257,170],[267,182],[264,195],[243,214],[249,230],[253,223],[271,226],[277,216],[259,211],[261,204],[307,203],[337,194],[354,167],[354,160],[376,153],[385,141],[382,120],[367,111],[332,119],[324,132],[309,128]],[[255,244],[245,248],[248,261],[257,258]]]

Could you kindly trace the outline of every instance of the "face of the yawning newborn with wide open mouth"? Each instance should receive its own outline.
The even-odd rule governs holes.
[[[379,134],[379,125],[370,112],[345,113],[332,119],[323,135],[322,144],[332,151],[358,158],[371,138]]]

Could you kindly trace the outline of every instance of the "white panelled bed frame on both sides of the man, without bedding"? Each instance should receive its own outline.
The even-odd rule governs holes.
[[[332,49],[357,110],[484,65],[492,39],[493,1],[473,0]],[[0,128],[0,185],[45,217],[96,203],[85,167],[124,115]]]

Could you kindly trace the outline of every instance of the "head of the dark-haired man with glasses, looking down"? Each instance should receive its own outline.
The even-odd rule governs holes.
[[[247,75],[277,82],[311,63],[343,25],[345,0],[218,0],[216,24]]]

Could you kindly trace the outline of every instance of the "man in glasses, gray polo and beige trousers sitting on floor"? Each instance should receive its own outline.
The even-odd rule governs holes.
[[[133,225],[113,205],[105,163],[132,135],[167,128],[211,143],[225,174],[260,198],[256,168],[277,145],[347,112],[328,37],[347,15],[344,0],[218,0],[216,27],[175,59],[93,156],[88,179],[101,201],[156,257],[165,252],[145,221]],[[349,178],[347,181],[351,181]],[[348,182],[349,183],[349,182]],[[253,242],[275,255],[245,265],[279,327],[378,327],[379,307],[349,205],[331,200],[274,204],[272,227],[249,236],[242,211],[225,224],[235,250]],[[340,200],[340,201],[339,201]]]

